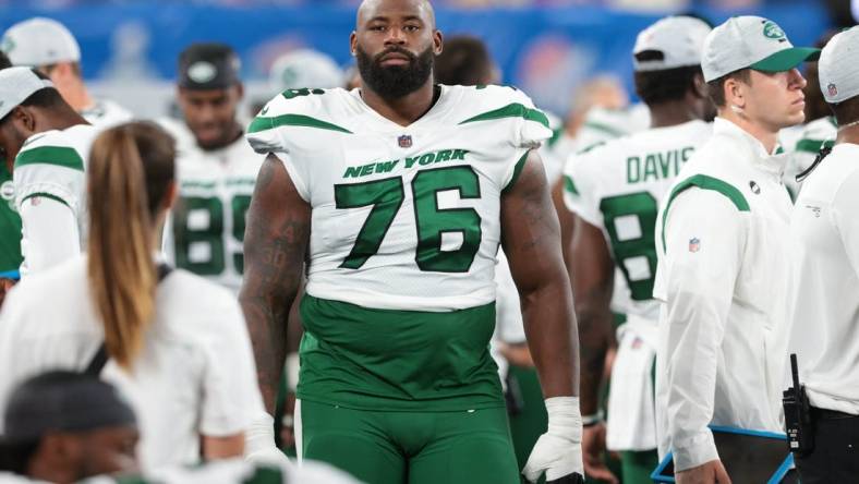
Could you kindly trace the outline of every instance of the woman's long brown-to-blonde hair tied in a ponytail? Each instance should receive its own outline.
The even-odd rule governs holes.
[[[87,273],[107,352],[125,368],[142,351],[155,313],[153,223],[173,179],[173,157],[172,138],[144,122],[107,130],[89,156]]]

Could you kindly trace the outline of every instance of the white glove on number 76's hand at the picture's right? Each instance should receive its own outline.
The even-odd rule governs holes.
[[[545,471],[546,481],[555,481],[578,472],[584,476],[582,464],[582,414],[578,397],[546,399],[548,429],[534,444],[522,474],[536,482]]]

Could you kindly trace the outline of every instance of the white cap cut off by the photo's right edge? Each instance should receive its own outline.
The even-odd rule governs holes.
[[[840,102],[859,96],[859,27],[835,35],[818,62],[820,90],[826,102]]]

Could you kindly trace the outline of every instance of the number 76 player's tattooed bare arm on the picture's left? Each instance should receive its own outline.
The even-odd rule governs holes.
[[[239,301],[253,343],[263,401],[274,414],[287,356],[287,318],[301,283],[311,233],[311,207],[274,154],[259,170],[246,227]]]

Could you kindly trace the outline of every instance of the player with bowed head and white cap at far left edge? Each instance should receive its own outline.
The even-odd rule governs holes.
[[[0,148],[22,219],[21,274],[43,270],[81,252],[86,237],[89,146],[98,130],[29,68],[0,70]]]

